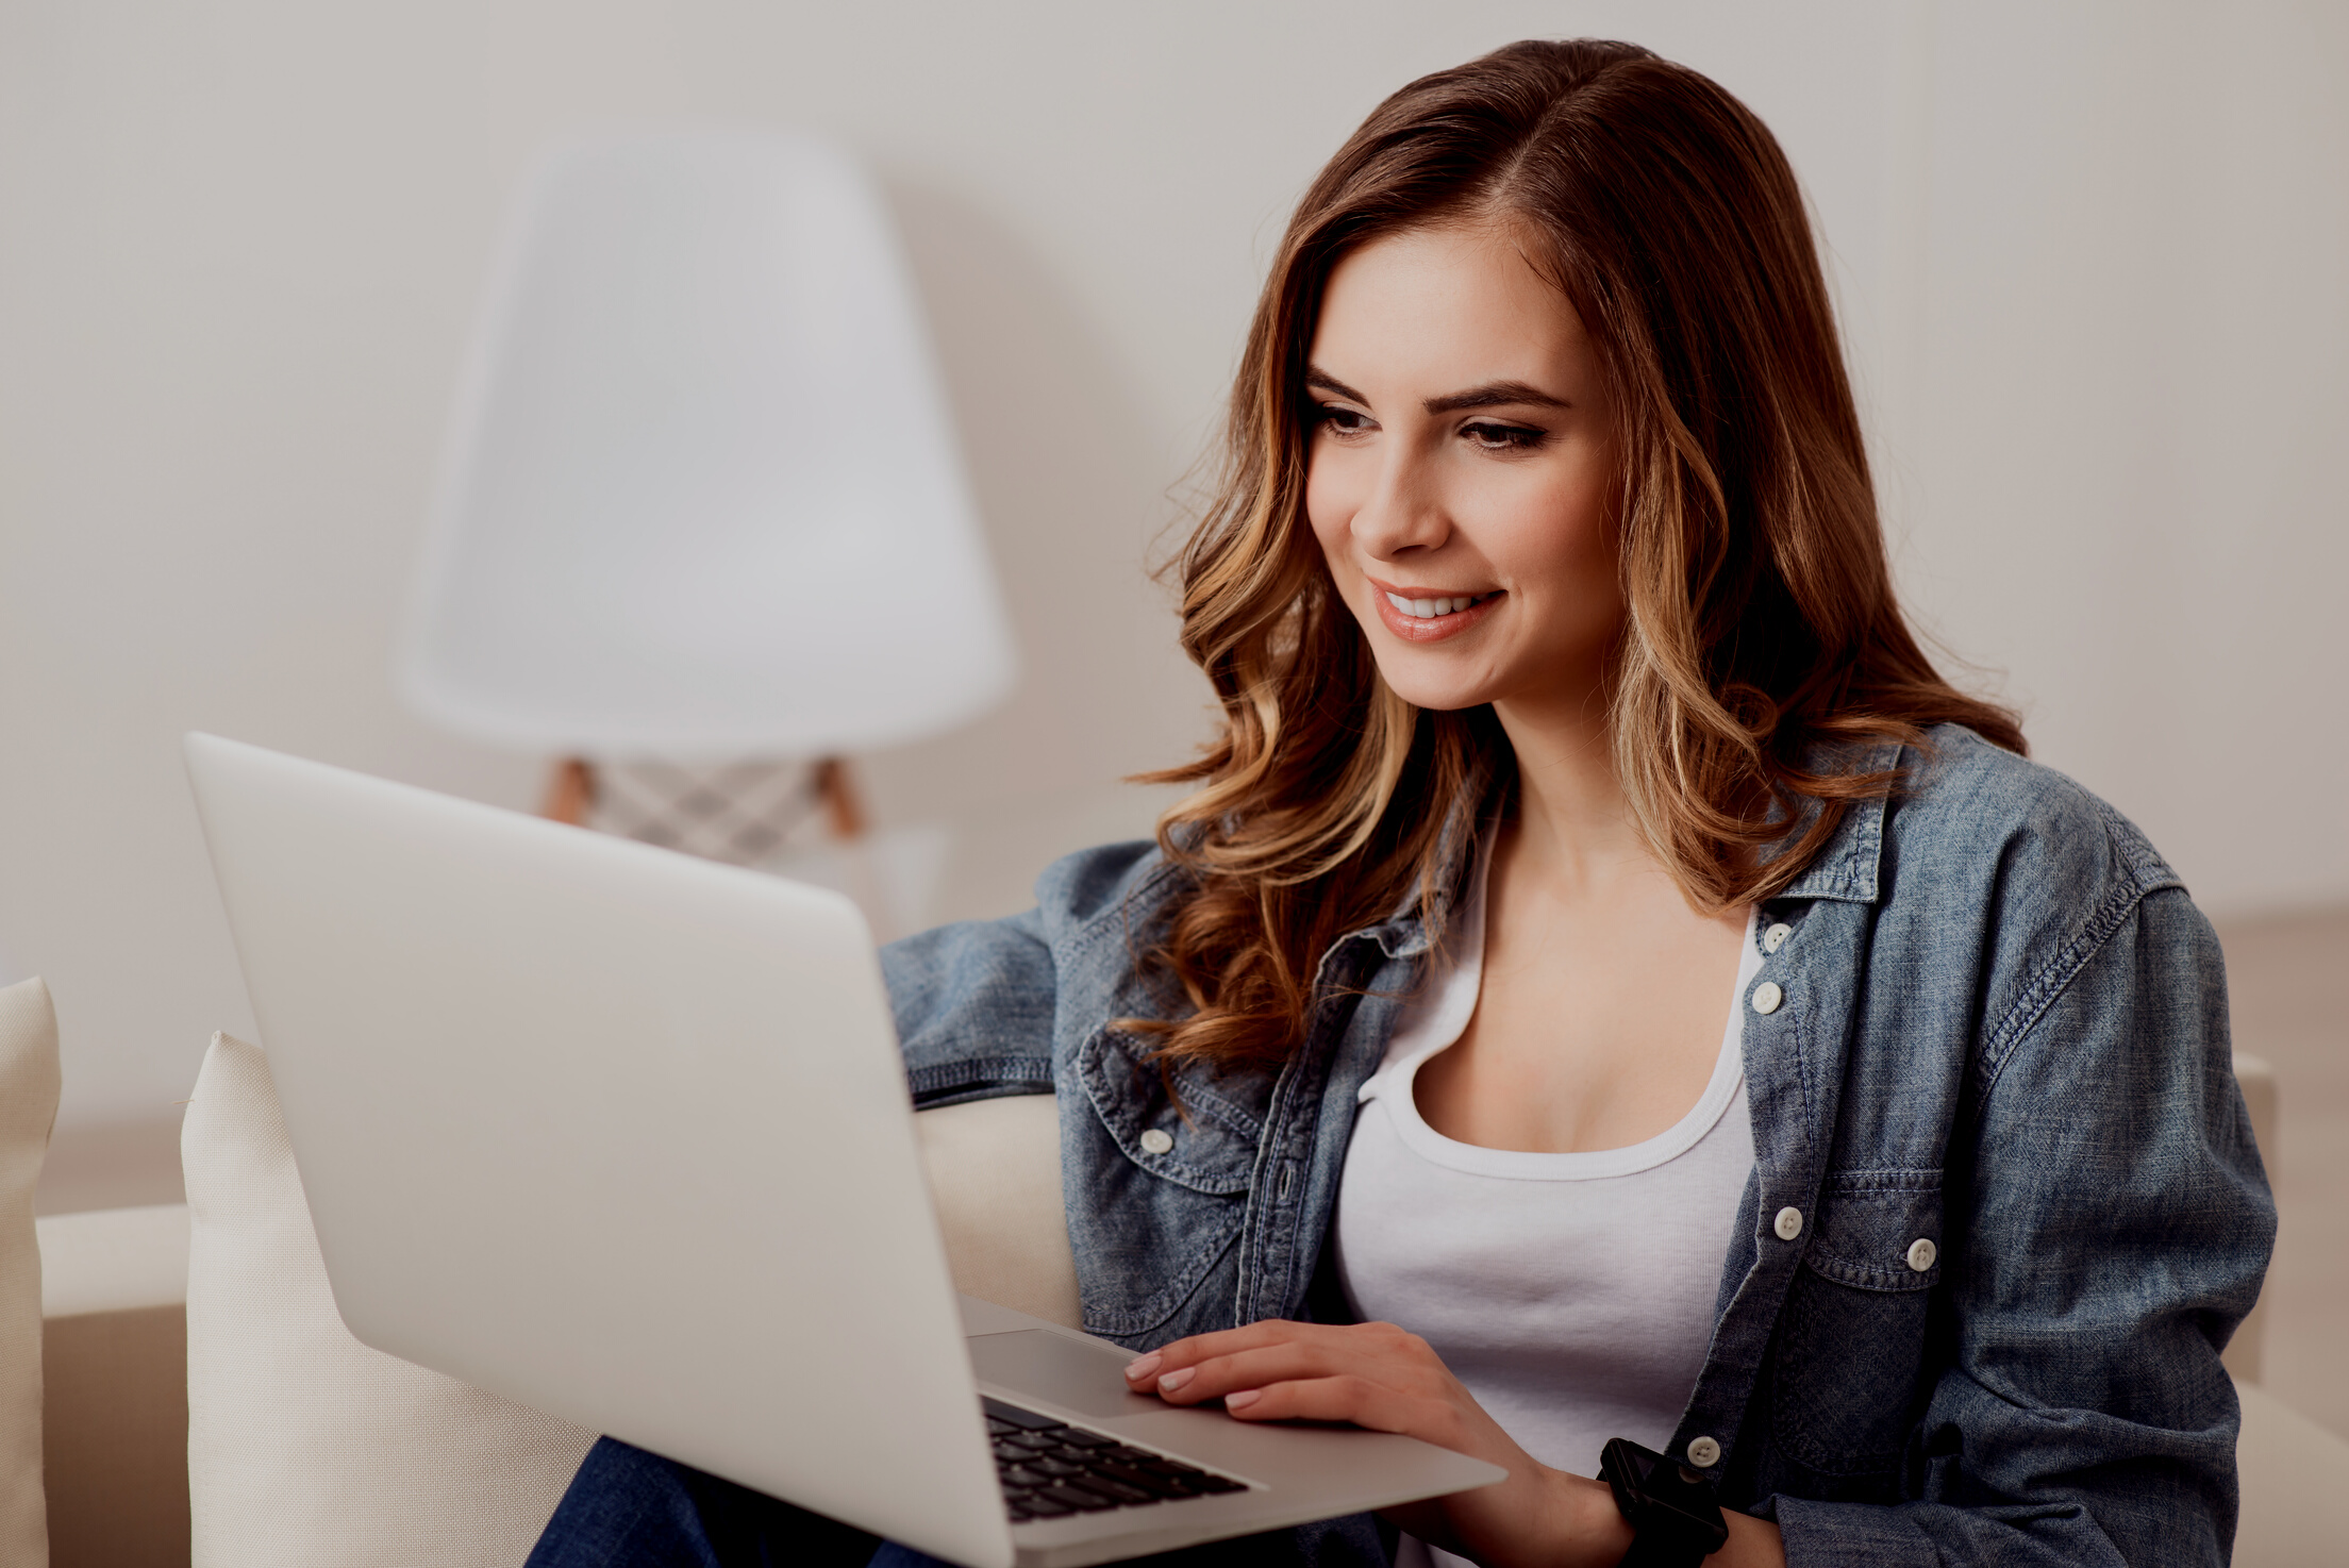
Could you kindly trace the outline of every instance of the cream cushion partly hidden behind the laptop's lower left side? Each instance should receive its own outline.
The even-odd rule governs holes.
[[[514,1568],[594,1441],[350,1336],[261,1052],[211,1038],[188,1174],[193,1568]]]

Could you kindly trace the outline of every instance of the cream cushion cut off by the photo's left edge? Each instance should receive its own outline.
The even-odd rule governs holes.
[[[56,1012],[38,979],[0,991],[0,1563],[49,1561],[40,1488],[40,1242],[33,1185],[56,1122]]]

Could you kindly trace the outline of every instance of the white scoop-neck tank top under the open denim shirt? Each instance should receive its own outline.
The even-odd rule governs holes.
[[[1663,1448],[1703,1371],[1745,1178],[1738,998],[1762,969],[1748,915],[1712,1080],[1630,1148],[1534,1155],[1454,1143],[1412,1080],[1468,1028],[1485,960],[1480,857],[1449,962],[1405,1007],[1362,1084],[1337,1195],[1337,1268],[1365,1322],[1428,1340],[1527,1453],[1593,1476],[1609,1437]],[[1468,1568],[1409,1535],[1395,1568]]]

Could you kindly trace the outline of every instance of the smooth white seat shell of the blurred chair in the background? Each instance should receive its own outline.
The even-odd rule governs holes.
[[[474,340],[402,688],[580,756],[916,739],[1012,685],[874,183],[775,131],[576,143]]]

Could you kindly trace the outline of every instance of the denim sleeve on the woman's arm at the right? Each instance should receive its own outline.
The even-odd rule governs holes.
[[[2116,901],[1985,1030],[1919,1500],[1778,1495],[1788,1561],[2225,1563],[2241,1413],[2220,1350],[2276,1209],[2217,937],[2175,885]]]

